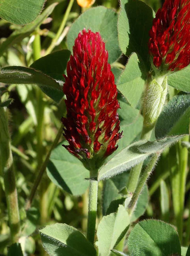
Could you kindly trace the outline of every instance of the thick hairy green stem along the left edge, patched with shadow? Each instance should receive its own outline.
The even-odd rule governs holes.
[[[20,215],[13,169],[11,141],[8,130],[8,118],[5,108],[0,108],[0,169],[5,185],[11,241],[15,243],[18,241],[20,235]]]

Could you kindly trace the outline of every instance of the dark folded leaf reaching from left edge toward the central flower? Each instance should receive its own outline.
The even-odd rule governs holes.
[[[54,97],[54,90],[61,92],[60,85],[50,76],[43,74],[40,71],[28,67],[11,66],[4,67],[0,70],[0,81],[7,84],[38,84],[50,98]],[[45,90],[45,87],[48,87]]]

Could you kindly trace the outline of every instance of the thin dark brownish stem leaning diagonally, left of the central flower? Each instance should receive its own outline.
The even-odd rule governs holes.
[[[42,176],[43,176],[43,174],[45,172],[45,168],[47,166],[47,163],[48,163],[51,151],[56,147],[56,145],[57,145],[57,143],[58,143],[58,141],[59,141],[59,139],[61,137],[61,134],[62,134],[62,125],[61,125],[61,127],[60,127],[60,129],[59,129],[59,131],[57,133],[57,136],[56,136],[53,144],[51,145],[50,150],[48,151],[48,153],[47,153],[47,155],[45,157],[45,160],[44,160],[43,164],[40,167],[40,171],[38,172],[36,179],[34,180],[34,185],[33,185],[32,189],[31,189],[31,193],[30,193],[28,201],[26,203],[26,209],[29,209],[31,207],[32,201],[34,199],[34,195],[35,195],[35,193],[37,191],[37,188],[38,188],[38,186],[40,184]]]

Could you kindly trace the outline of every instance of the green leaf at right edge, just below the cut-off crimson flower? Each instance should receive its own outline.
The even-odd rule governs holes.
[[[170,74],[167,83],[178,90],[190,92],[190,66]]]

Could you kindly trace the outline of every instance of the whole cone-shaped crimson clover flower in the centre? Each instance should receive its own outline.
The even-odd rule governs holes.
[[[63,146],[80,160],[98,163],[116,150],[122,136],[116,85],[99,32],[79,33],[64,77],[67,116],[62,123],[69,145]]]

